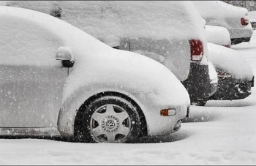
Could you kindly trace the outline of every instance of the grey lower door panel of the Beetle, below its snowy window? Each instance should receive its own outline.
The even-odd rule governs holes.
[[[67,69],[0,66],[0,72],[0,127],[57,126]]]

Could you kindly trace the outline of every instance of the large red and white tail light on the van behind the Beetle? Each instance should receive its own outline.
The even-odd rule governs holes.
[[[190,39],[191,61],[201,61],[203,59],[203,43],[198,39]]]

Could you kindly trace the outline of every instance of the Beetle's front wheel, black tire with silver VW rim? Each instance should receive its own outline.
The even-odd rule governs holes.
[[[121,97],[95,99],[83,112],[79,140],[90,143],[134,142],[141,131],[137,107]]]

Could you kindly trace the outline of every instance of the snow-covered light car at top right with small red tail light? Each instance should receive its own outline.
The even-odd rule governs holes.
[[[253,30],[246,8],[235,7],[223,1],[193,1],[193,4],[207,25],[227,28],[232,45],[249,42],[251,39]]]

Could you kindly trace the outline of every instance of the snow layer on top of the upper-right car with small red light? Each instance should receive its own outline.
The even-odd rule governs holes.
[[[248,13],[246,8],[235,7],[223,1],[193,1],[193,4],[203,18],[240,18]]]

